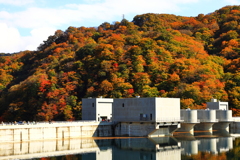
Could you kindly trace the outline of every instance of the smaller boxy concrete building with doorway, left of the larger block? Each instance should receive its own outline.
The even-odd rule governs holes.
[[[112,98],[83,98],[82,120],[112,120]]]

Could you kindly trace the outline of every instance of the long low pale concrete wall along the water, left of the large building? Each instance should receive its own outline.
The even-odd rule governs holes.
[[[0,142],[113,136],[112,123],[13,125],[0,127]]]

